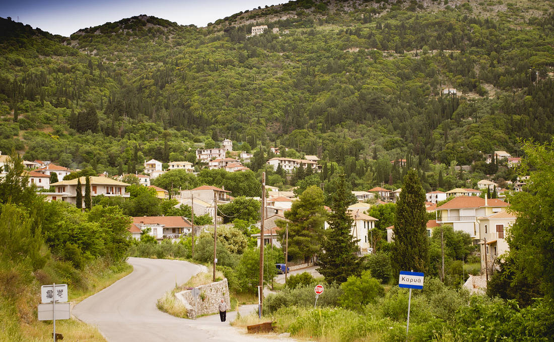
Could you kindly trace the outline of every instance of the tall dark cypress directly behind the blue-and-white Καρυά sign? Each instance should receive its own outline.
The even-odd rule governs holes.
[[[426,272],[429,268],[425,191],[415,170],[404,177],[394,220],[392,262],[399,271]]]

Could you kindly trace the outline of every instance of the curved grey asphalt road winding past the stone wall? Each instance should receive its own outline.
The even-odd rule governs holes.
[[[73,308],[73,315],[96,325],[109,342],[269,341],[268,338],[245,335],[230,327],[235,313],[227,322],[219,315],[189,320],[173,317],[156,308],[157,299],[186,282],[203,266],[186,261],[129,258],[134,271],[83,300]],[[252,310],[252,307],[248,307]],[[241,310],[241,314],[244,314]],[[280,341],[290,339],[278,339]]]

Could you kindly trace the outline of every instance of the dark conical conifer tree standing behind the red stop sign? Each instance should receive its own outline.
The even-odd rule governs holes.
[[[328,283],[342,283],[348,277],[359,276],[361,273],[360,258],[356,256],[357,241],[353,240],[351,235],[353,220],[347,212],[350,196],[351,191],[347,187],[345,176],[341,175],[332,196],[332,212],[327,219],[329,229],[319,256],[319,272]]]

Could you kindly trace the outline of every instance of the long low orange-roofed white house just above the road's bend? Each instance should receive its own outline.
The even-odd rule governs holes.
[[[141,233],[150,229],[150,234],[158,242],[163,239],[177,241],[181,236],[189,235],[192,232],[191,222],[182,216],[139,216],[133,217],[129,231],[134,239],[140,240]]]

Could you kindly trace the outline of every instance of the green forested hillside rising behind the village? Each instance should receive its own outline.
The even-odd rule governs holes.
[[[307,0],[205,28],[139,15],[68,38],[1,19],[0,151],[116,174],[194,162],[227,137],[261,147],[254,171],[282,145],[364,190],[399,182],[397,158],[430,172],[518,156],[519,138],[554,132],[552,5]]]

